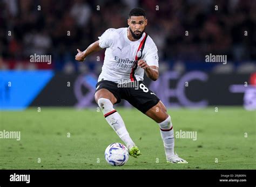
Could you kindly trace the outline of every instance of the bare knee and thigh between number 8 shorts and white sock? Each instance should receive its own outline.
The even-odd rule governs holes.
[[[150,110],[145,113],[148,117],[156,121],[157,123],[161,123],[165,119],[168,118],[168,113],[166,111],[165,105],[159,100],[159,102],[151,107]]]

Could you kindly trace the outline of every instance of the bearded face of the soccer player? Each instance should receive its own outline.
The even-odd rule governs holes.
[[[144,16],[131,16],[127,22],[130,26],[132,37],[134,39],[140,39],[147,25],[147,19]]]

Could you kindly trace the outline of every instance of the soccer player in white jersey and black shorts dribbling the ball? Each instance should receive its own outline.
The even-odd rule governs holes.
[[[143,82],[144,72],[153,81],[159,76],[157,46],[144,32],[147,25],[145,11],[141,8],[132,9],[127,24],[128,28],[109,28],[85,51],[77,49],[76,60],[82,62],[91,53],[106,48],[95,100],[107,123],[125,143],[131,156],[138,157],[141,153],[127,132],[122,117],[113,107],[121,99],[127,100],[158,123],[168,163],[187,163],[174,154],[173,127],[166,107]],[[124,88],[122,84],[130,87]]]

